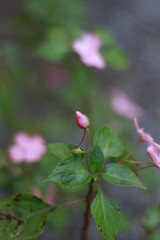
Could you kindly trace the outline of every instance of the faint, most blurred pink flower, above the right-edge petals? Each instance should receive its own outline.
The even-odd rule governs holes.
[[[144,114],[142,107],[131,101],[121,89],[114,89],[110,100],[113,110],[123,117],[133,119],[134,116],[142,117]]]

